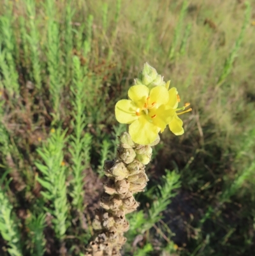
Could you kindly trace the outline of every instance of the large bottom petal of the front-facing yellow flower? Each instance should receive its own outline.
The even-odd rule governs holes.
[[[146,116],[140,116],[129,125],[132,140],[141,145],[149,145],[157,139],[160,128],[150,123]]]

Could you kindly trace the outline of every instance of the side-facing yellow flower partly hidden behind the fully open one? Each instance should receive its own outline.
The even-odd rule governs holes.
[[[191,111],[192,109],[186,109],[186,107],[188,107],[190,105],[190,103],[186,103],[184,107],[180,107],[179,109],[177,109],[178,107],[178,103],[180,102],[180,96],[177,92],[177,89],[175,87],[172,87],[169,91],[168,91],[168,95],[169,95],[169,101],[166,105],[168,105],[168,107],[170,107],[170,116],[172,116],[173,118],[171,119],[169,125],[169,128],[171,130],[171,132],[173,132],[175,135],[182,135],[184,133],[184,128],[182,128],[182,120],[178,117],[180,114],[184,114],[186,112]],[[178,110],[184,110],[182,112],[177,112]]]

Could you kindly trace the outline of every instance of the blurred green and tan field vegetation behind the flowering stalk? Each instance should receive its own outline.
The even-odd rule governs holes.
[[[193,111],[155,149],[123,255],[254,253],[254,1],[0,4],[0,255],[84,255],[145,61]]]

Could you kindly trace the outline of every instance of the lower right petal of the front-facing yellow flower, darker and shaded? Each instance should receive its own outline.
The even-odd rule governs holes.
[[[149,114],[152,117],[152,123],[161,128],[161,130],[176,116],[175,110],[166,105],[161,105],[158,109],[151,109]]]

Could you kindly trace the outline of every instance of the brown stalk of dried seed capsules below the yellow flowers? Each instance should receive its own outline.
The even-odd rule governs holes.
[[[139,206],[135,193],[143,192],[147,181],[145,165],[150,162],[152,147],[135,144],[127,132],[120,135],[117,157],[105,161],[104,171],[108,180],[104,184],[101,209],[96,211],[92,223],[94,236],[87,248],[88,256],[121,256],[120,250],[126,243],[124,232],[129,229],[126,214]]]

